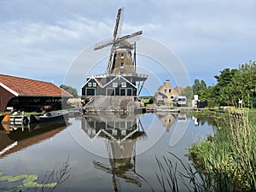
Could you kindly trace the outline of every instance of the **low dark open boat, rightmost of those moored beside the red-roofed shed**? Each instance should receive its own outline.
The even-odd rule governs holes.
[[[45,114],[31,114],[28,117],[29,124],[42,123],[54,120],[65,120],[68,118],[68,113],[45,113]]]

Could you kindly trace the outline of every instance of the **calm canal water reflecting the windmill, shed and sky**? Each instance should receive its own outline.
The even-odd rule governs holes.
[[[189,113],[146,113],[2,126],[0,134],[0,191],[41,191],[41,183],[50,191],[56,179],[62,182],[54,191],[160,191],[156,159],[166,156],[175,165],[171,152],[191,164],[187,148],[213,131]]]

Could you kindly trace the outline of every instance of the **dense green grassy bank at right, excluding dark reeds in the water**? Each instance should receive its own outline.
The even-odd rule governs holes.
[[[229,118],[230,112],[224,116],[217,113],[214,136],[189,148],[196,169],[212,177],[218,191],[256,190],[255,110],[240,113],[239,119]],[[197,117],[209,114],[212,117],[211,111],[203,111]]]

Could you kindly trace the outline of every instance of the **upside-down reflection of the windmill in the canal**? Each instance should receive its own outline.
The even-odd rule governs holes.
[[[112,175],[114,191],[120,189],[119,178],[137,187],[142,186],[141,178],[136,172],[136,142],[137,139],[145,139],[147,136],[138,116],[85,116],[82,119],[82,129],[91,139],[105,139],[109,164],[94,160],[93,165],[96,169]]]

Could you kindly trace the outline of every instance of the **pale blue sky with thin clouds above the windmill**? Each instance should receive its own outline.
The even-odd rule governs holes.
[[[214,76],[224,68],[256,60],[255,0],[0,0],[0,73],[66,83],[81,53],[112,38],[121,7],[125,8],[122,34],[143,30],[137,41],[137,66],[159,82],[180,73],[173,69],[161,73],[161,67],[168,69],[173,63],[162,63],[157,55],[176,56],[191,84],[203,79],[207,85],[216,84]],[[145,39],[162,44],[169,53],[147,55]],[[110,47],[100,51],[99,62],[81,61],[84,66],[78,66],[84,78],[89,68],[97,68],[96,74],[105,72]],[[83,81],[69,85],[80,89]],[[189,85],[175,79],[172,83]]]

